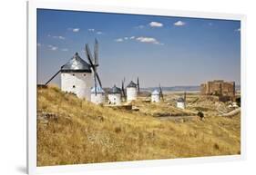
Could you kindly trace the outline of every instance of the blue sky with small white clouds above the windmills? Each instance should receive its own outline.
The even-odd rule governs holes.
[[[142,87],[241,83],[240,21],[37,10],[37,82],[46,81],[85,44],[99,43],[104,87],[126,77]],[[59,83],[57,76],[52,83]]]

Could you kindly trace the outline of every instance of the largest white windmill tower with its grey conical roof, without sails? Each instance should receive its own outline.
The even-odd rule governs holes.
[[[91,66],[78,53],[69,62],[61,66],[61,91],[73,92],[78,98],[90,101],[92,86]]]

